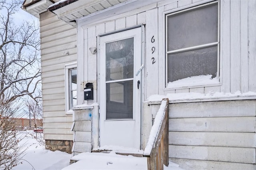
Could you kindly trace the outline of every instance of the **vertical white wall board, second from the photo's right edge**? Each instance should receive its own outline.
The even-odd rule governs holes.
[[[241,92],[248,92],[248,1],[241,3]],[[249,21],[250,22],[250,21]]]

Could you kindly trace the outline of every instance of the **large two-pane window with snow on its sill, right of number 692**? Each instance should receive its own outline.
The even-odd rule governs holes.
[[[166,15],[167,87],[219,81],[218,14],[215,1]]]

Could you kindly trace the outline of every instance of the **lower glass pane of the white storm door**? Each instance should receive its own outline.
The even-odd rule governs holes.
[[[132,119],[133,80],[106,83],[106,119]]]

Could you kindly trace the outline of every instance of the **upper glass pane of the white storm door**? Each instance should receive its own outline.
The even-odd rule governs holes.
[[[134,38],[106,43],[106,81],[133,77]]]

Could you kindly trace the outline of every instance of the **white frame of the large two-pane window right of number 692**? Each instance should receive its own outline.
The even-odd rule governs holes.
[[[200,8],[202,6],[207,6],[210,4],[214,4],[217,3],[218,4],[218,35],[217,35],[217,41],[218,42],[214,42],[214,43],[207,43],[207,44],[203,44],[203,45],[196,45],[193,47],[185,47],[182,49],[176,49],[176,50],[172,50],[172,51],[168,51],[168,29],[167,29],[167,18],[170,15],[174,15],[174,14],[178,14],[181,12],[185,12],[185,11],[189,11],[189,10],[193,10],[196,8]],[[189,89],[189,88],[196,88],[196,87],[209,87],[209,86],[220,86],[221,85],[221,79],[220,79],[220,0],[212,0],[212,1],[208,1],[208,2],[202,2],[201,4],[190,4],[187,5],[185,7],[180,7],[180,8],[174,8],[173,10],[169,10],[169,11],[164,11],[164,17],[163,17],[163,22],[164,22],[164,53],[165,53],[165,82],[164,82],[164,90],[174,90],[174,89]],[[176,52],[185,52],[185,51],[191,51],[191,50],[195,50],[195,49],[200,49],[200,48],[206,48],[206,47],[211,47],[217,45],[217,74],[216,77],[219,79],[219,83],[211,83],[211,84],[202,84],[202,85],[184,85],[184,86],[180,86],[180,87],[168,87],[168,54],[170,53],[176,53]]]

